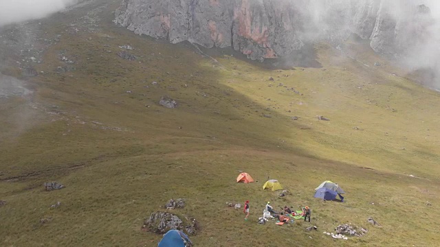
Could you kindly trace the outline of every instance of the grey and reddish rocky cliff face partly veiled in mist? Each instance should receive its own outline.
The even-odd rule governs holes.
[[[252,60],[285,56],[318,40],[340,43],[351,33],[371,39],[375,51],[397,56],[421,43],[412,36],[423,37],[432,21],[429,8],[410,2],[124,0],[115,23],[170,43],[188,40],[204,47],[233,47]]]

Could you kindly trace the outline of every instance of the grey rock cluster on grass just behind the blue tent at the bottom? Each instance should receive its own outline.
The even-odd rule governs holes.
[[[182,220],[172,213],[157,211],[144,221],[142,229],[157,234],[164,234],[169,230],[180,230],[188,235],[195,235],[199,230],[199,224],[195,219],[188,220],[188,217],[185,217]]]

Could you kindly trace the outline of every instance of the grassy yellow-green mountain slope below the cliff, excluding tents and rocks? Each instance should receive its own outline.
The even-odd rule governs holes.
[[[47,26],[47,35],[63,32],[69,18]],[[197,246],[437,246],[438,93],[327,45],[317,46],[323,69],[277,72],[228,55],[213,62],[184,45],[135,36],[110,18],[101,23],[104,31],[63,34],[47,51],[38,68],[47,73],[30,82],[37,88],[37,109],[28,109],[38,116],[32,128],[16,129],[23,117],[10,117],[27,104],[0,108],[8,116],[2,123],[9,123],[0,128],[0,199],[8,201],[0,207],[2,245],[155,246],[160,236],[140,231],[144,217],[183,197],[188,207],[179,213],[203,228],[192,237]],[[136,48],[135,62],[115,55],[127,43]],[[75,58],[76,71],[52,72],[61,49]],[[361,55],[369,64],[377,59]],[[162,95],[179,108],[157,105]],[[300,119],[292,121],[294,115]],[[234,183],[239,170],[258,182]],[[262,191],[267,176],[293,195]],[[327,179],[348,192],[346,203],[313,198]],[[67,188],[47,193],[41,186],[47,180]],[[225,207],[247,199],[250,222]],[[267,200],[277,207],[308,204],[318,231],[306,233],[303,222],[256,224]],[[49,209],[56,201],[62,206]],[[383,227],[367,224],[369,216]],[[40,224],[45,217],[52,221]],[[322,234],[347,222],[370,231],[349,241]]]

